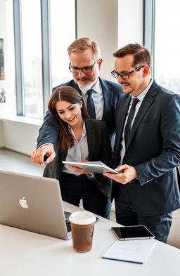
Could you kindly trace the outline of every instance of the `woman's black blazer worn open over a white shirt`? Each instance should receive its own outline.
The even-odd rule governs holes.
[[[110,146],[110,138],[108,127],[104,121],[98,121],[92,118],[85,119],[87,144],[89,149],[89,161],[101,160],[108,166],[113,166],[113,153]],[[46,165],[44,175],[50,178],[60,179],[63,171],[63,160],[66,159],[68,150],[60,150],[58,143],[56,144],[56,157],[53,162]],[[79,161],[79,160],[78,160]],[[100,173],[94,173],[95,185],[101,190],[103,195],[112,197],[112,181],[110,178]]]

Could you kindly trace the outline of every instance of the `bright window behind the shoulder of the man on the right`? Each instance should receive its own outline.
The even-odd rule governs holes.
[[[180,94],[180,1],[145,0],[144,45],[153,54],[153,77]]]

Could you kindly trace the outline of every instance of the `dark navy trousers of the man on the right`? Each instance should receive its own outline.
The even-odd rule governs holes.
[[[139,202],[141,204],[141,202]],[[155,235],[155,239],[167,242],[172,225],[172,213],[163,213],[155,216],[142,216],[131,201],[124,194],[115,198],[116,221],[124,226],[145,225]]]

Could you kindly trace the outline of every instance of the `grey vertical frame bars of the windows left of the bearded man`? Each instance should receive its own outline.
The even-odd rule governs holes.
[[[51,29],[50,1],[41,0],[41,47],[42,47],[42,91],[43,112],[46,114],[51,94]],[[77,0],[75,1],[75,38],[77,38]],[[13,0],[13,23],[15,41],[15,93],[16,114],[25,117],[25,87],[23,79],[23,44],[21,0]]]

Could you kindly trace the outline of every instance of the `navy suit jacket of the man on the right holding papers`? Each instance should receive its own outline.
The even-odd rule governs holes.
[[[129,95],[117,105],[115,167],[120,164],[124,121]],[[143,216],[163,214],[180,207],[178,173],[180,164],[180,96],[153,81],[136,114],[122,164],[134,166],[139,183],[114,183],[115,198],[122,189]],[[125,187],[127,186],[127,187]]]

